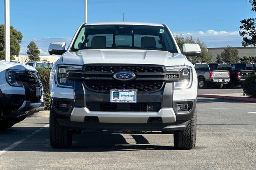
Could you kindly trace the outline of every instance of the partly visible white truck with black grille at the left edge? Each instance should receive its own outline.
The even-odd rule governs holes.
[[[44,109],[42,83],[34,67],[0,61],[0,129]]]

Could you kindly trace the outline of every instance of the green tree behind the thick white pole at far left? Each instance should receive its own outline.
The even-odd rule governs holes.
[[[10,26],[10,59],[19,55],[22,38],[21,32]],[[0,25],[0,59],[4,59],[4,24]]]

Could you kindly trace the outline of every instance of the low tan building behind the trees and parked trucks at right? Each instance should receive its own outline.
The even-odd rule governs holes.
[[[212,62],[216,61],[217,54],[220,54],[224,51],[226,47],[216,47],[216,48],[208,48],[209,52],[213,55]],[[238,50],[238,55],[240,58],[249,56],[256,56],[256,47],[234,47]]]

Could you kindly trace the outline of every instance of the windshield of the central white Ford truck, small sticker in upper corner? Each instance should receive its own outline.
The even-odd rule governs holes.
[[[165,27],[138,25],[83,26],[71,51],[80,49],[150,49],[178,53]]]

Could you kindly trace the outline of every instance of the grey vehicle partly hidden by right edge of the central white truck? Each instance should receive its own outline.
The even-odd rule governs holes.
[[[204,89],[210,83],[210,67],[206,63],[195,63],[198,88]]]

